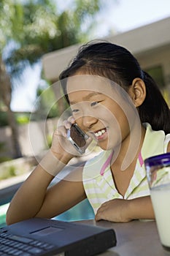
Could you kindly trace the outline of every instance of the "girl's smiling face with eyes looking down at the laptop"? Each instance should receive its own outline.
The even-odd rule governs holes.
[[[95,75],[68,78],[67,93],[78,126],[109,150],[127,139],[135,121],[134,105],[117,84]]]

